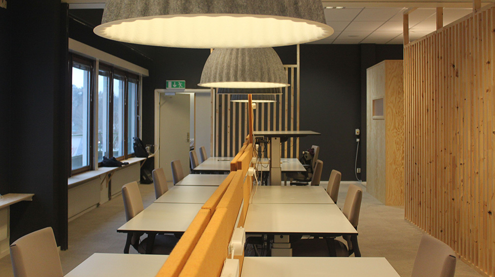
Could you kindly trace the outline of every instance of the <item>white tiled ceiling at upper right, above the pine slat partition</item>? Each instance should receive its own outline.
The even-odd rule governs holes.
[[[335,33],[312,44],[402,44],[402,15],[408,7],[326,8],[327,24]],[[409,14],[409,38],[417,40],[436,30],[436,8]],[[444,8],[444,26],[471,13],[471,8]]]

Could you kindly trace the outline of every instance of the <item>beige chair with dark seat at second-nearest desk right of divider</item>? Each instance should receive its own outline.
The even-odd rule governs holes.
[[[357,230],[359,223],[359,212],[361,211],[361,200],[363,190],[357,185],[349,185],[346,195],[346,202],[342,212],[349,220],[350,224]],[[344,235],[345,243],[335,240],[333,237],[301,239],[293,243],[293,256],[295,257],[328,257],[340,256],[348,257],[354,253],[355,257],[361,257],[357,235]],[[334,253],[335,251],[335,253]]]

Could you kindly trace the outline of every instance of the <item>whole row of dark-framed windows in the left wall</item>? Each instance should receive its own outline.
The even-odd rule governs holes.
[[[139,134],[139,76],[75,54],[71,72],[71,174],[94,169],[103,156],[133,156],[133,138]]]

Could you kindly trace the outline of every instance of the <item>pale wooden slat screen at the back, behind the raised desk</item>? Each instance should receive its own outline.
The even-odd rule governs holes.
[[[284,65],[290,87],[282,89],[276,103],[256,103],[254,131],[299,130],[299,86],[297,65]],[[248,135],[248,104],[230,102],[230,96],[216,94],[215,156],[232,157]],[[237,112],[236,112],[237,111]],[[237,135],[236,135],[237,133]],[[282,157],[299,157],[299,139],[282,143]]]

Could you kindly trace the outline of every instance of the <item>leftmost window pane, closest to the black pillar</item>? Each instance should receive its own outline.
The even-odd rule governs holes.
[[[90,98],[92,63],[74,59],[72,63],[71,169],[89,169],[91,161]]]

